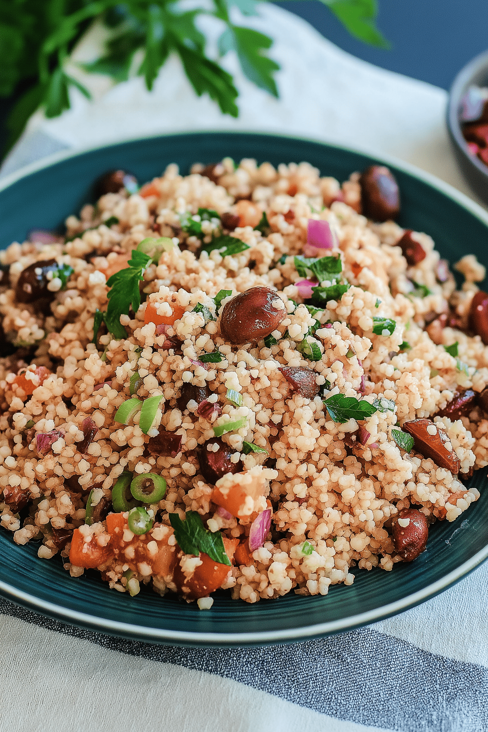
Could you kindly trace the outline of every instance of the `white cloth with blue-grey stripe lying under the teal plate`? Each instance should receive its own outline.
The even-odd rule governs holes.
[[[469,193],[448,146],[445,91],[353,59],[277,7],[263,7],[252,23],[277,39],[279,101],[238,75],[241,117],[222,118],[193,96],[171,59],[153,94],[139,79],[110,89],[101,78],[90,81],[91,105],[75,95],[59,119],[35,115],[0,175],[69,147],[239,128],[394,154]],[[77,58],[89,59],[99,42],[95,29]],[[361,630],[231,650],[124,641],[0,600],[0,729],[486,732],[487,582],[484,565],[424,605]]]

